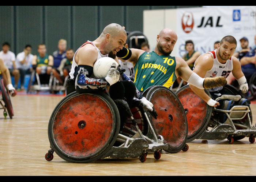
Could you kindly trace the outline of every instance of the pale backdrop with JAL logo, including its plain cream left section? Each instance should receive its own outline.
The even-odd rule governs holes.
[[[172,28],[178,36],[172,56],[181,57],[186,53],[186,40],[192,40],[195,50],[201,54],[213,51],[214,42],[220,41],[226,35],[236,38],[238,51],[241,49],[240,39],[244,36],[248,38],[249,46],[255,46],[255,12],[256,6],[149,10],[144,12],[143,32],[153,50],[159,31]]]

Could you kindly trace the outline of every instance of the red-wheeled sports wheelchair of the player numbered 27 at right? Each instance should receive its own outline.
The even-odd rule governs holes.
[[[223,140],[229,143],[249,137],[249,142],[255,142],[256,127],[252,126],[250,101],[244,98],[237,88],[227,84],[222,95],[215,100],[226,100],[227,107],[208,106],[191,88],[186,85],[176,92],[188,119],[187,142],[194,139]],[[204,90],[212,97],[210,92]],[[213,98],[214,99],[214,98]],[[233,104],[230,104],[233,103]]]

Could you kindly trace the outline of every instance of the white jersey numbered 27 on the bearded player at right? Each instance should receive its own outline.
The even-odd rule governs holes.
[[[229,76],[230,72],[233,70],[233,60],[232,56],[229,60],[226,61],[225,64],[222,64],[218,61],[216,50],[211,51],[211,52],[206,52],[210,53],[213,58],[213,66],[211,70],[206,72],[206,75],[204,78],[209,78],[209,77],[218,77],[218,76],[223,76],[224,78],[227,78]],[[208,91],[213,92],[213,91],[218,91],[221,90],[223,87],[216,87],[216,88],[211,88],[208,89]]]

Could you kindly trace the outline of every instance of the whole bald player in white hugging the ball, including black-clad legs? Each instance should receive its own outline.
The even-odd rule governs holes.
[[[67,82],[67,94],[76,91],[84,92],[85,90],[105,90],[108,89],[110,98],[113,100],[124,99],[131,107],[133,98],[136,94],[135,84],[129,80],[120,80],[120,69],[110,68],[104,79],[95,79],[93,77],[94,63],[103,57],[115,55],[123,48],[127,39],[127,33],[119,24],[112,23],[107,25],[101,35],[94,41],[87,41],[75,52],[70,79]],[[117,63],[119,61],[115,58]],[[139,98],[143,106],[153,111],[153,104],[146,98]],[[118,107],[119,109],[119,107]],[[121,126],[126,120],[127,114],[119,110],[121,116]]]

